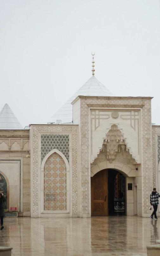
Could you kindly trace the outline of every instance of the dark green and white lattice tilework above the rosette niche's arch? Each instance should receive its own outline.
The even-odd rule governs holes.
[[[41,134],[41,163],[53,149],[61,151],[69,163],[69,135]]]

